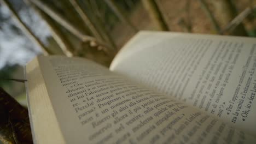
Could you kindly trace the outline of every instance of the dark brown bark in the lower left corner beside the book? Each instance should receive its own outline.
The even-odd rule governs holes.
[[[33,143],[28,111],[0,87],[0,143]]]

